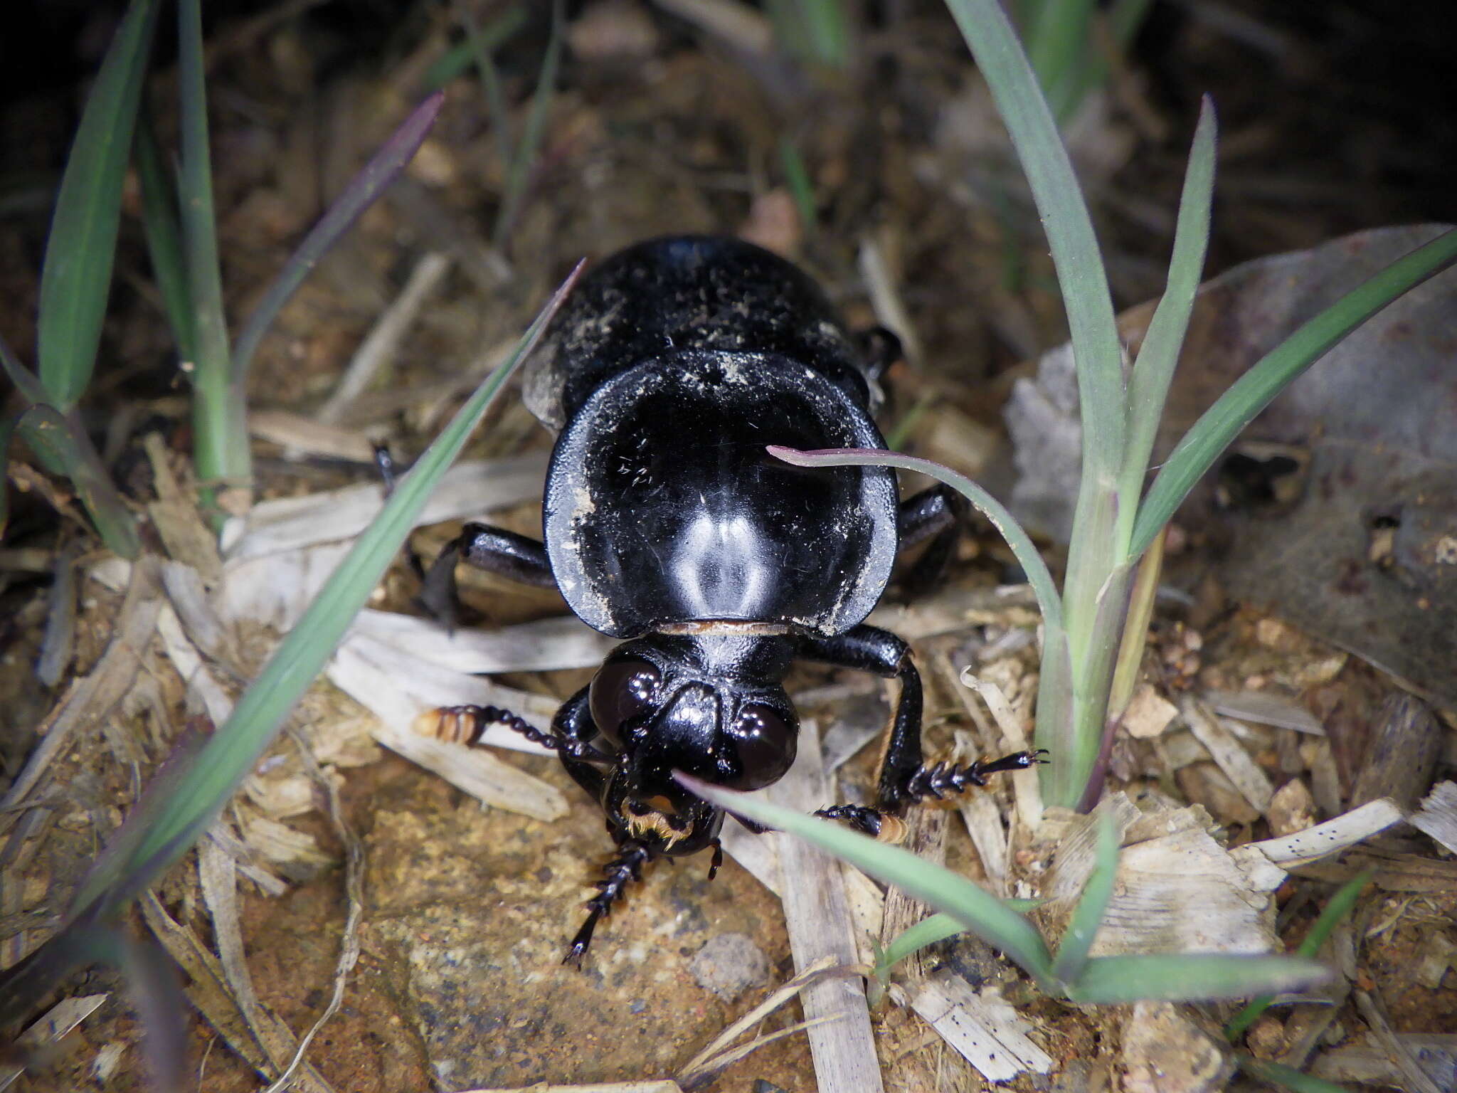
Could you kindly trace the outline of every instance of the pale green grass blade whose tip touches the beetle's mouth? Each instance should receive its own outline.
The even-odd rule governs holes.
[[[704,800],[765,823],[775,831],[785,831],[806,839],[863,869],[870,876],[895,885],[954,918],[965,930],[1000,949],[1036,979],[1046,981],[1052,957],[1048,955],[1048,946],[1043,944],[1036,927],[966,877],[918,858],[911,851],[849,831],[841,823],[804,816],[758,797],[689,778],[686,774],[675,774],[675,777]]]

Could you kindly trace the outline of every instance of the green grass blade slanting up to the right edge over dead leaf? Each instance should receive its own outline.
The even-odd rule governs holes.
[[[1346,293],[1240,376],[1185,433],[1183,440],[1164,462],[1138,510],[1129,557],[1138,557],[1148,549],[1148,544],[1158,529],[1169,523],[1195,482],[1214,466],[1240,430],[1250,424],[1291,380],[1402,293],[1415,289],[1454,261],[1457,261],[1457,229],[1447,230],[1425,246],[1396,259]]]

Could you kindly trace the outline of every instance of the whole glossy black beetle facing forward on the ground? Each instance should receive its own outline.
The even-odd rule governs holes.
[[[935,487],[900,501],[887,468],[812,471],[765,452],[884,447],[871,411],[895,354],[893,335],[852,340],[782,258],[680,236],[602,261],[523,366],[527,405],[559,433],[545,544],[466,525],[423,600],[450,616],[455,565],[466,561],[555,586],[587,625],[624,638],[551,733],[492,707],[439,711],[441,734],[469,739],[504,721],[552,748],[602,804],[618,854],[567,962],[580,963],[645,863],[712,847],[717,871],[724,813],[673,771],[737,790],[782,777],[798,720],[781,683],[796,657],[900,681],[879,809],[820,815],[879,834],[909,802],[1039,761],[922,764],[909,649],[863,622],[900,548],[935,536],[919,565],[944,561],[959,532],[954,494]]]

